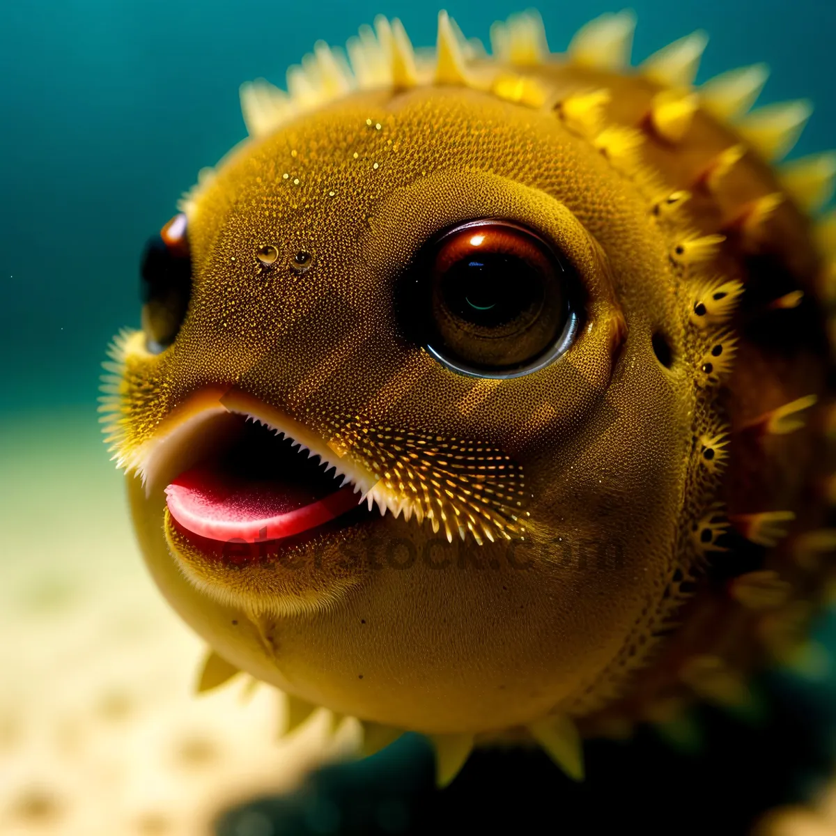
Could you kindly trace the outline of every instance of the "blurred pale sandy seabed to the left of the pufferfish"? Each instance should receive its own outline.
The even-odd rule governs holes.
[[[92,410],[0,422],[0,832],[202,834],[350,746],[277,742],[247,678],[193,696],[201,641],[145,573]],[[322,713],[322,712],[320,712]]]

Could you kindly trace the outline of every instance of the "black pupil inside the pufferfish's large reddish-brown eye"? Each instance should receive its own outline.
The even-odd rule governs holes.
[[[462,258],[441,278],[441,293],[451,314],[483,328],[512,323],[543,303],[536,271],[503,252]]]

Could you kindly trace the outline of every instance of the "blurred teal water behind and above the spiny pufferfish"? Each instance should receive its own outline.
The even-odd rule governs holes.
[[[640,0],[634,62],[695,28],[698,80],[766,60],[762,101],[808,96],[795,153],[836,145],[832,0]],[[452,2],[468,36],[517,7]],[[550,46],[619,3],[543,3]],[[238,85],[284,70],[318,38],[344,43],[376,13],[416,45],[435,3],[29,0],[0,13],[0,410],[92,405],[110,336],[139,318],[136,268],[202,166],[245,135]]]

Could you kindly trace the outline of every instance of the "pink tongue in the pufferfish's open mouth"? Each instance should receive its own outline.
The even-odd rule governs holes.
[[[259,480],[199,466],[166,487],[168,510],[199,537],[259,543],[327,523],[357,507],[350,485],[334,490],[277,480]]]

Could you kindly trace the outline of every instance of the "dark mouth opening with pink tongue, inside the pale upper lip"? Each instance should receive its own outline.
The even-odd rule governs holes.
[[[263,543],[293,537],[357,508],[359,488],[298,441],[234,415],[237,432],[166,487],[179,528],[208,540]]]

